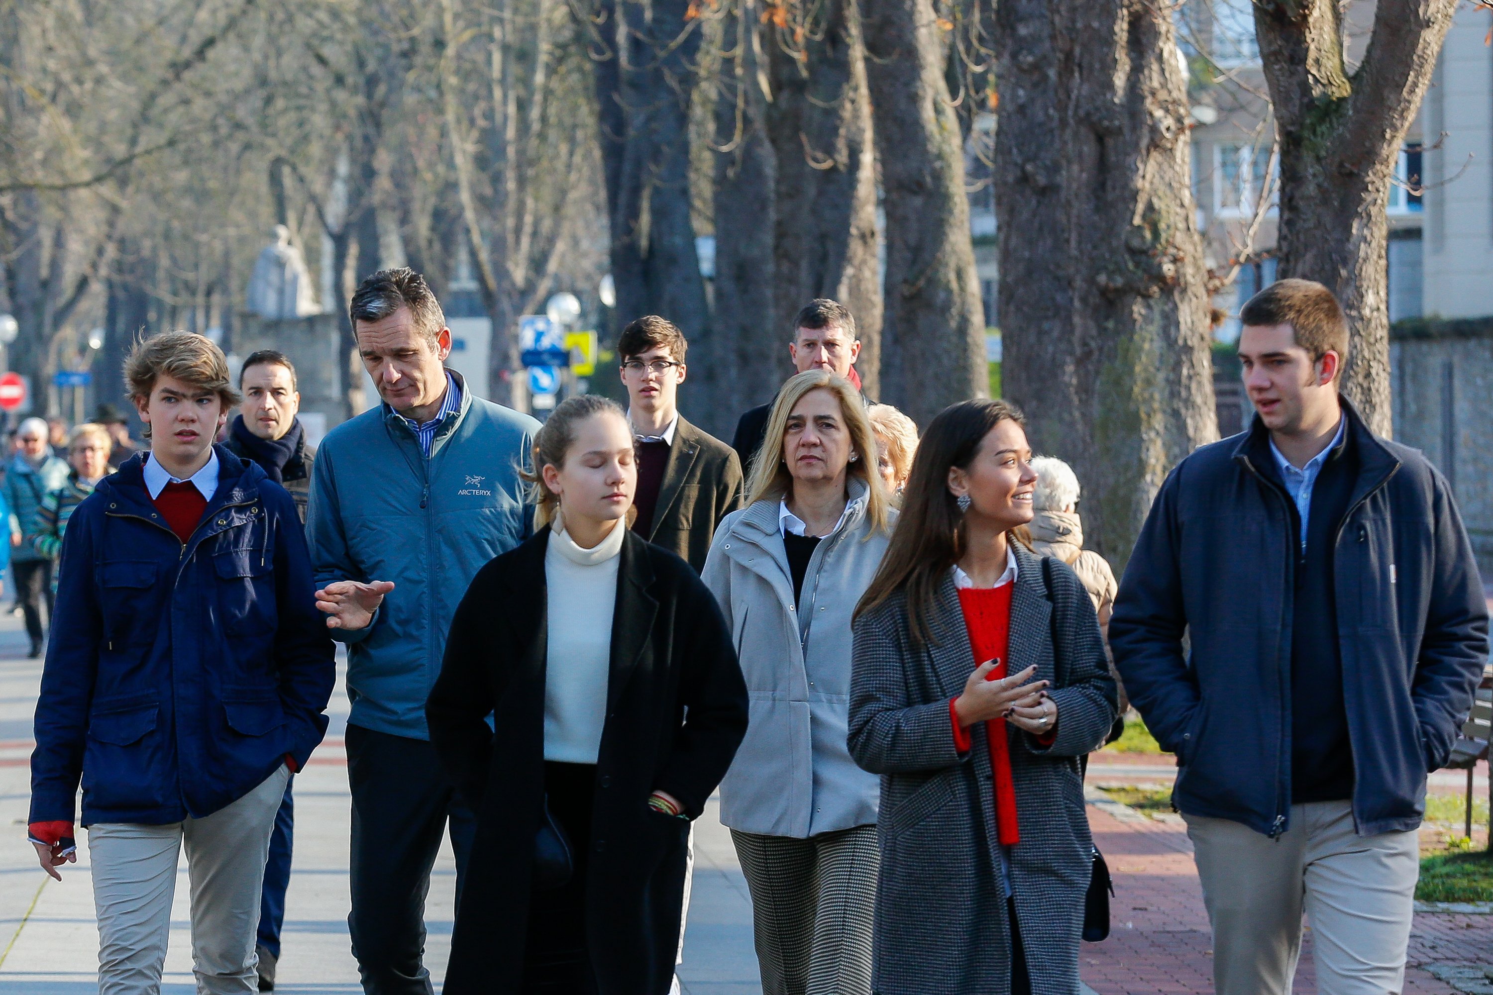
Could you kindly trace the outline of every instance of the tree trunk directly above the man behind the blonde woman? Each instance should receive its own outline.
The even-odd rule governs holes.
[[[854,0],[799,6],[806,24],[767,28],[778,300],[758,362],[776,380],[758,404],[793,373],[785,348],[793,318],[817,297],[832,297],[855,316],[855,368],[866,394],[881,395],[876,166],[860,12]]]

